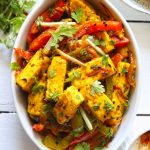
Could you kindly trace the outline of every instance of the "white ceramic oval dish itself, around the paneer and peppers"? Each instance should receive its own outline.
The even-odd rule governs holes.
[[[33,10],[30,12],[28,17],[26,18],[24,24],[22,25],[20,32],[18,34],[18,37],[16,39],[14,47],[20,47],[25,48],[26,44],[26,37],[28,34],[28,31],[33,23],[33,21],[36,19],[36,17],[43,12],[45,9],[50,7],[52,3],[55,0],[43,0],[38,3]],[[90,2],[90,0],[88,0]],[[139,103],[139,97],[140,97],[140,63],[139,63],[139,52],[138,52],[138,45],[135,40],[135,37],[124,19],[124,17],[120,14],[120,12],[108,1],[108,0],[93,0],[92,5],[96,7],[98,10],[102,10],[102,4],[106,6],[109,11],[116,17],[117,20],[120,20],[125,28],[126,36],[130,39],[130,49],[134,51],[136,55],[137,60],[137,70],[136,70],[136,82],[137,86],[136,89],[132,91],[131,97],[130,97],[130,107],[126,114],[123,117],[122,123],[119,127],[119,130],[117,134],[115,135],[112,142],[109,144],[108,148],[109,150],[116,150],[119,148],[123,140],[126,138],[128,131],[131,129],[134,118],[136,116],[136,110]],[[12,62],[15,61],[14,52],[12,54]],[[27,104],[26,104],[26,98],[21,91],[21,89],[16,85],[14,74],[12,73],[12,91],[13,91],[13,97],[14,97],[14,103],[16,106],[16,110],[18,113],[18,116],[20,118],[21,124],[28,134],[28,136],[31,138],[31,140],[37,145],[37,147],[41,150],[47,150],[48,148],[45,147],[42,142],[39,134],[35,133],[32,130],[31,122],[27,114]]]

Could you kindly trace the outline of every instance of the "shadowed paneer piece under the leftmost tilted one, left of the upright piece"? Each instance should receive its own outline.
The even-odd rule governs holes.
[[[28,113],[31,117],[40,116],[42,113],[45,89],[46,89],[46,73],[43,74],[42,78],[36,83],[32,92],[28,95]]]

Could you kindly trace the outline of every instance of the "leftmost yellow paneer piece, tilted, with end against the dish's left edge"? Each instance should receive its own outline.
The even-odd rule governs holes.
[[[16,83],[26,92],[30,92],[35,78],[39,77],[39,74],[45,71],[50,64],[50,59],[42,53],[42,50],[36,52],[31,58],[26,67],[16,77]]]

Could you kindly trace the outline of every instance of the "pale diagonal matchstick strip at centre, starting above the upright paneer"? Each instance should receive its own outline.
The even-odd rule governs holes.
[[[59,49],[56,49],[56,52],[57,52],[59,55],[61,55],[61,56],[63,56],[64,58],[66,58],[67,60],[70,60],[71,62],[73,62],[73,63],[75,63],[75,64],[77,64],[77,65],[79,65],[79,66],[82,66],[82,67],[85,67],[85,66],[86,66],[86,65],[85,65],[84,63],[82,63],[81,61],[79,61],[79,60],[77,60],[77,59],[71,57],[70,55],[64,53],[63,51],[61,51],[61,50],[59,50]]]

